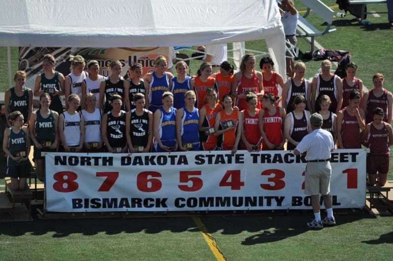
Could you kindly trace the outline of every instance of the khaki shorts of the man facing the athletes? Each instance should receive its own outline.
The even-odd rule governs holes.
[[[308,162],[305,168],[304,194],[328,195],[330,192],[330,176],[332,167],[330,161]]]

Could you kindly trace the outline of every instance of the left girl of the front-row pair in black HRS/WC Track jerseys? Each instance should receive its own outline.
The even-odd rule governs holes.
[[[115,94],[111,98],[112,110],[102,116],[101,137],[108,152],[127,152],[125,134],[125,112],[121,110],[121,96]]]

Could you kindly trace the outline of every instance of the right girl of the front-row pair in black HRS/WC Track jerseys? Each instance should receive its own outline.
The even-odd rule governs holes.
[[[153,114],[145,109],[145,95],[135,93],[135,109],[125,115],[125,134],[129,151],[149,152],[153,137]]]

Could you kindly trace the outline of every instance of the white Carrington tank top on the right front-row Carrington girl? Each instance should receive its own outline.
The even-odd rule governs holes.
[[[85,142],[101,142],[101,110],[95,109],[93,113],[82,111],[85,118]]]

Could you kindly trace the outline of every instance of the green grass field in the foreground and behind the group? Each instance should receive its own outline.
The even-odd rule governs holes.
[[[336,5],[335,0],[324,2]],[[295,0],[295,4],[300,11],[306,9],[300,0]],[[369,5],[368,11],[373,10],[386,10],[386,5]],[[335,8],[335,12],[338,11]],[[320,30],[325,28],[313,12],[307,20]],[[363,26],[350,14],[346,18],[335,18],[332,28],[337,30],[316,37],[316,41],[325,49],[351,52],[352,60],[359,65],[358,77],[367,88],[372,87],[372,74],[382,72],[385,87],[393,91],[390,55],[393,29],[388,27],[386,14],[369,15],[367,20],[372,24]],[[309,51],[310,46],[303,39],[299,39],[298,45],[299,60],[303,60],[302,53]],[[246,42],[246,48],[266,51],[266,44],[251,41]],[[11,48],[11,51],[14,73],[18,50]],[[1,47],[0,91],[8,88],[6,54],[6,48]],[[317,73],[320,61],[303,61],[307,66],[306,78]],[[191,73],[196,72],[200,62],[191,61]],[[393,161],[390,166],[388,179],[393,180]],[[337,226],[322,231],[306,229],[305,223],[311,218],[309,211],[301,215],[206,216],[201,219],[228,260],[386,260],[392,256],[393,217],[373,218],[365,213],[336,215]],[[161,215],[0,223],[0,253],[1,260],[215,259],[191,217]]]

